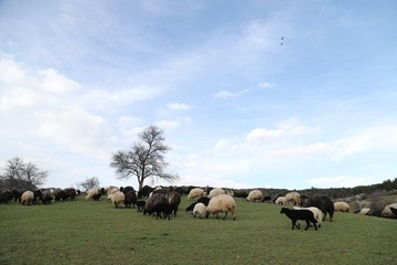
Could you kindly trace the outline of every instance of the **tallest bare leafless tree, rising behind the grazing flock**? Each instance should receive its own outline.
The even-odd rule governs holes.
[[[165,173],[168,163],[164,155],[170,148],[164,144],[164,132],[157,126],[149,126],[139,134],[139,141],[128,151],[117,151],[112,155],[110,167],[116,169],[118,179],[129,179],[136,176],[139,189],[147,178],[174,181],[176,174]]]

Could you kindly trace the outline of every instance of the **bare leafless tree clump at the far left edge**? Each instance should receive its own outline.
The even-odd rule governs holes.
[[[1,172],[1,180],[6,189],[36,189],[45,183],[49,176],[46,170],[40,169],[32,162],[25,163],[15,157],[7,161]]]

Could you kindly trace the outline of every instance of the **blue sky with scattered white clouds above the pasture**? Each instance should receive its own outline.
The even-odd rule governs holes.
[[[397,177],[397,2],[0,0],[0,167],[118,180],[164,131],[173,183],[341,188]]]

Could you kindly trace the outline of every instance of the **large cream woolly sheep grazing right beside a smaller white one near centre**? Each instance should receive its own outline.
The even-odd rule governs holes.
[[[205,218],[208,218],[210,214],[216,213],[216,219],[218,219],[219,212],[225,213],[223,220],[226,219],[228,212],[232,213],[233,221],[236,220],[236,202],[234,201],[233,197],[228,194],[219,194],[210,200],[210,203],[206,208]]]

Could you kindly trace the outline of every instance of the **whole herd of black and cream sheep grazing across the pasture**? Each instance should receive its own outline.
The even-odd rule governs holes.
[[[50,204],[54,201],[74,200],[79,191],[73,188],[68,189],[37,189],[35,191],[19,192],[15,190],[6,190],[0,192],[0,203],[19,201],[24,205],[36,203]],[[186,194],[187,200],[195,200],[187,208],[186,212],[192,212],[193,218],[207,219],[210,215],[219,218],[224,213],[225,220],[228,213],[233,220],[236,220],[235,199],[243,198],[248,202],[272,202],[281,205],[280,213],[286,214],[291,220],[292,230],[300,229],[299,220],[305,222],[305,230],[313,226],[314,230],[321,227],[322,222],[329,214],[330,222],[333,220],[335,211],[350,212],[351,205],[346,201],[333,202],[325,195],[300,195],[292,191],[287,194],[277,194],[275,197],[265,197],[259,189],[246,192],[238,192],[225,189],[192,188],[189,191],[173,190],[168,188],[144,187],[136,192],[132,187],[117,188],[95,187],[87,191],[86,200],[100,200],[106,197],[115,208],[137,208],[138,212],[144,215],[153,215],[157,219],[176,218],[178,209],[181,203],[181,197]],[[143,200],[146,198],[146,200]],[[356,211],[358,214],[368,214],[371,208],[363,206]],[[378,213],[378,216],[397,219],[397,203],[391,203]]]

